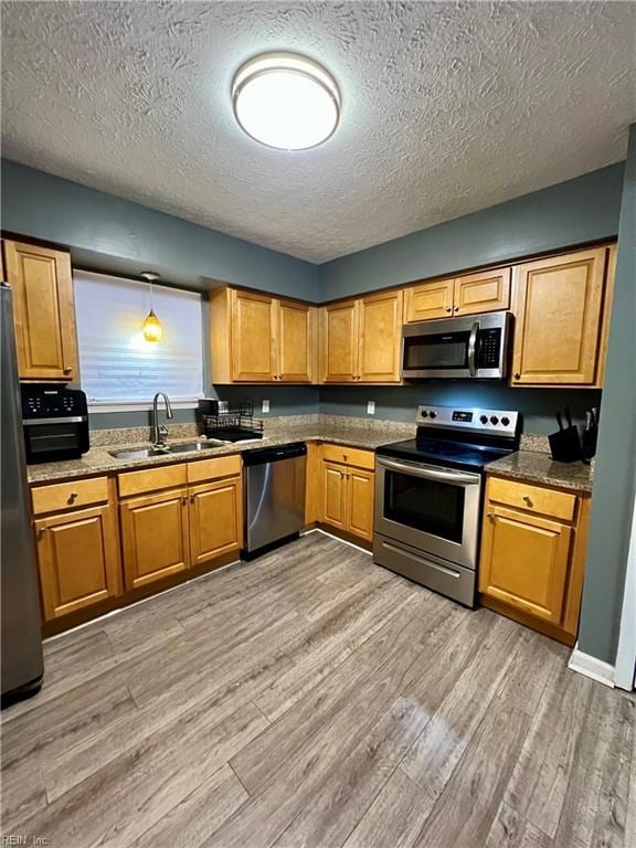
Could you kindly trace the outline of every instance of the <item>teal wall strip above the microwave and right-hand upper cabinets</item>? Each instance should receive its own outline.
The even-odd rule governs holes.
[[[624,163],[320,266],[324,300],[584,244],[618,232]]]

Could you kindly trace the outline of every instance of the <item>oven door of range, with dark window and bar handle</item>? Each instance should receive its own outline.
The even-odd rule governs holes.
[[[481,475],[378,457],[374,530],[477,568]]]

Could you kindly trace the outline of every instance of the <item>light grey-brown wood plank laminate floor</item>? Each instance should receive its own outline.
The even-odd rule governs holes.
[[[635,701],[321,533],[45,644],[2,830],[53,848],[636,845]]]

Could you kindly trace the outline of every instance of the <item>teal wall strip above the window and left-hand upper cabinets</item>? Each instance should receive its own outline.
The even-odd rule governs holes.
[[[2,230],[71,248],[73,264],[206,289],[235,283],[318,300],[318,268],[76,182],[1,163]]]

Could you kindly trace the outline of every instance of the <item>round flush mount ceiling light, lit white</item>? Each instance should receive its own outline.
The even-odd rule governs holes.
[[[232,103],[248,136],[280,150],[321,145],[340,119],[336,81],[297,53],[264,53],[246,62],[232,83]]]

